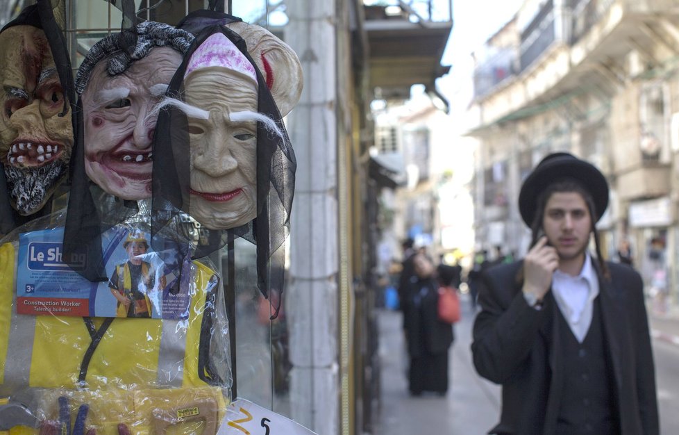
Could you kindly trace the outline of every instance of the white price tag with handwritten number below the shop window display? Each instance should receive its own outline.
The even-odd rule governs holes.
[[[316,433],[249,400],[236,399],[226,409],[226,418],[221,423],[217,435],[316,435]]]

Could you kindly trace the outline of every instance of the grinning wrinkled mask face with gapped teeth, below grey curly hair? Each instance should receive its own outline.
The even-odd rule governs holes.
[[[106,60],[94,67],[82,98],[85,170],[111,195],[151,197],[154,109],[181,60],[175,49],[157,47],[116,76],[106,72]]]

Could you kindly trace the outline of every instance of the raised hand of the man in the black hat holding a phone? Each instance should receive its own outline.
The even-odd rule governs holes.
[[[542,301],[552,284],[552,274],[558,268],[556,248],[547,245],[546,236],[542,236],[523,258],[523,293],[531,293]]]

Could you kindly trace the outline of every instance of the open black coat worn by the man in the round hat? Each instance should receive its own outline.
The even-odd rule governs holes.
[[[517,279],[523,262],[485,271],[478,295],[482,311],[473,326],[478,373],[502,384],[502,415],[491,434],[553,434],[562,396],[558,305],[547,293],[544,308],[526,303]],[[608,263],[599,277],[603,334],[611,355],[621,435],[657,435],[655,367],[642,279],[626,265]]]

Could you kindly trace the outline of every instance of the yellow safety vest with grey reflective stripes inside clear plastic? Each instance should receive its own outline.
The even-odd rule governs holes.
[[[92,409],[88,427],[97,427],[98,435],[117,435],[126,416],[132,434],[153,433],[149,427],[159,424],[153,417],[158,409],[181,414],[190,404],[217,404],[221,420],[230,369],[228,338],[217,336],[221,348],[215,349],[212,334],[215,322],[226,322],[215,319],[213,270],[194,261],[186,320],[80,318],[17,314],[16,263],[15,245],[1,245],[0,397],[33,388],[41,395],[69,395],[75,399],[73,416],[78,402],[86,401]],[[58,409],[48,411],[58,416]]]

